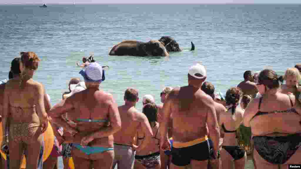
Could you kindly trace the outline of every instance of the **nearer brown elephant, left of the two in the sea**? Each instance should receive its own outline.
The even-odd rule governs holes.
[[[158,40],[151,40],[147,43],[128,40],[113,46],[109,55],[169,56],[169,53],[165,46]]]

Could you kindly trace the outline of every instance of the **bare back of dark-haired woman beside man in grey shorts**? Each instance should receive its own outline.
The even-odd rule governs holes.
[[[155,152],[160,151],[160,128],[159,128],[159,123],[156,123],[156,125],[152,128],[154,136],[151,137],[147,144],[147,146],[142,149],[139,152],[136,152],[136,155],[149,155]],[[138,145],[141,144],[142,140],[145,139],[144,133],[141,130],[141,128],[138,129],[138,134],[137,134],[137,143]]]

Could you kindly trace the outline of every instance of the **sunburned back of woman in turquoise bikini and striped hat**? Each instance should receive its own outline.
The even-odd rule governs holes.
[[[68,97],[66,102],[68,99],[72,99],[74,106],[74,109],[68,112],[68,119],[77,123],[76,128],[79,131],[74,137],[74,143],[79,143],[88,133],[110,124],[108,111],[112,102],[110,94],[87,89]],[[113,146],[113,136],[94,139],[88,145]]]

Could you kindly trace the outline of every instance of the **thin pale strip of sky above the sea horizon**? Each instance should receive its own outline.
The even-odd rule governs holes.
[[[271,4],[287,4],[295,3],[300,4],[301,0],[151,0],[151,1],[141,1],[141,0],[75,0],[76,4],[103,4],[103,3],[195,3],[195,4],[258,4],[258,3],[271,3]],[[0,0],[0,4],[73,4],[73,0]]]

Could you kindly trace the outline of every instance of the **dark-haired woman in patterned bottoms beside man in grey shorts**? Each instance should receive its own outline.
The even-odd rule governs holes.
[[[151,137],[147,147],[136,152],[134,167],[135,169],[160,169],[160,131],[159,123],[157,122],[157,106],[155,103],[147,103],[143,106],[142,112],[151,124],[154,136]],[[142,130],[138,131],[137,145],[144,141],[144,137],[144,132]]]

